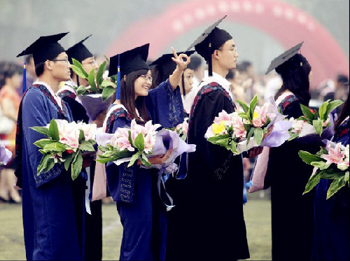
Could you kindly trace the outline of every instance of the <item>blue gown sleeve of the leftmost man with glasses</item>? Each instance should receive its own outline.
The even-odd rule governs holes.
[[[46,98],[43,96],[43,94],[41,94],[41,92],[38,90],[28,91],[22,104],[22,128],[25,142],[23,146],[27,148],[26,150],[27,154],[29,155],[29,162],[26,161],[26,163],[30,164],[27,169],[31,169],[31,173],[34,176],[36,183],[36,188],[56,178],[64,170],[62,164],[55,164],[50,171],[41,172],[39,175],[36,174],[36,169],[38,168],[38,164],[40,163],[43,155],[39,152],[38,147],[36,147],[33,143],[39,139],[44,139],[45,136],[34,131],[33,129],[29,129],[29,127],[46,126],[50,123],[52,118],[57,118],[57,115],[50,115],[52,113],[50,108],[46,106],[47,104],[45,103],[45,99]]]

